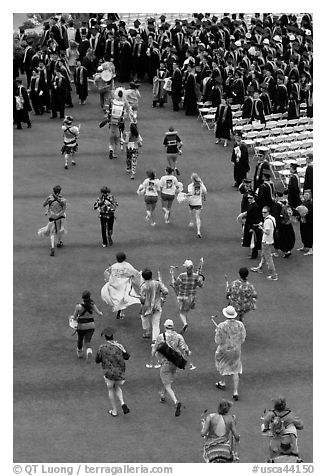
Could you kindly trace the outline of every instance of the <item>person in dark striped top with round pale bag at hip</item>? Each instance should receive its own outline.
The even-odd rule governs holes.
[[[89,291],[83,292],[82,300],[82,303],[76,304],[74,312],[74,319],[77,321],[77,357],[83,358],[83,345],[85,344],[86,359],[87,362],[90,362],[93,356],[90,344],[95,331],[93,312],[98,316],[103,316],[103,312],[97,308]]]

